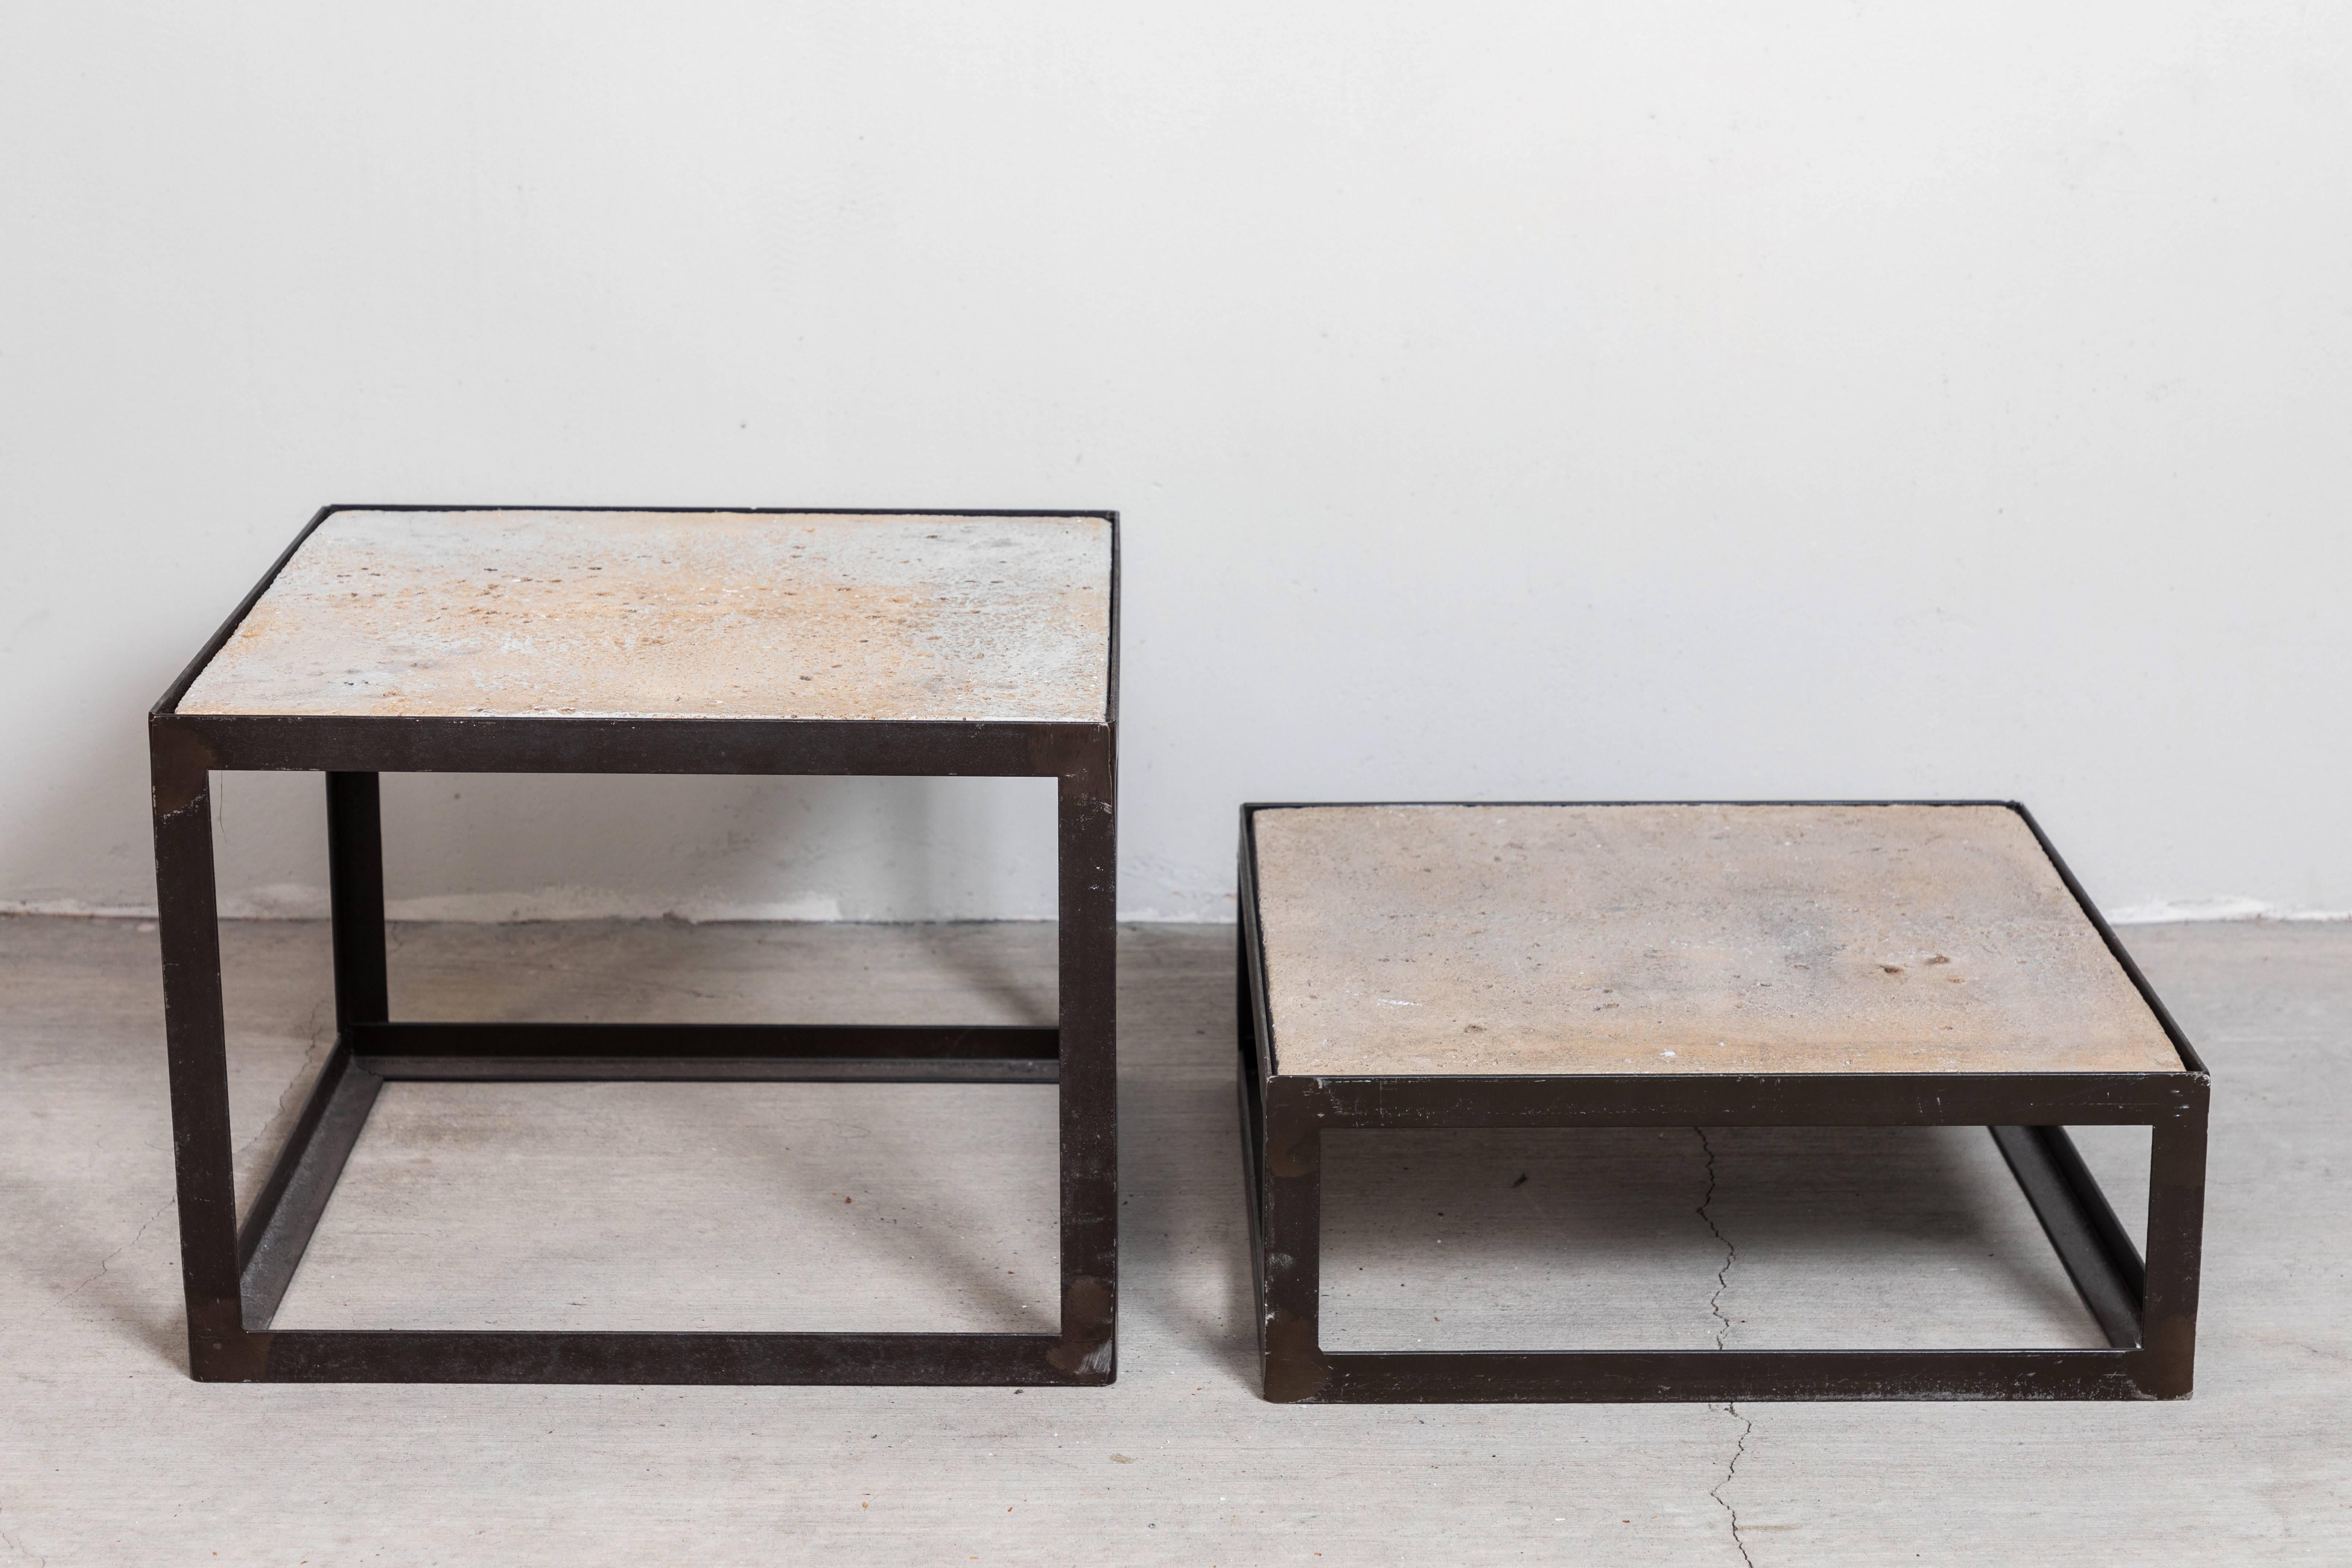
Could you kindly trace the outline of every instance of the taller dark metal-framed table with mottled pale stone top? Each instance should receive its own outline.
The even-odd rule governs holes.
[[[195,1378],[1110,1382],[1117,583],[1112,512],[313,517],[148,715]],[[216,769],[327,776],[336,1041],[242,1225]],[[386,771],[1054,778],[1058,1027],[395,1020]],[[1061,1333],[273,1331],[388,1079],[1058,1084]]]

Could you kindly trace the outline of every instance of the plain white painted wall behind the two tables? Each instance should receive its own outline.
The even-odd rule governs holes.
[[[1115,505],[1244,797],[2018,795],[2352,907],[2340,5],[9,5],[0,900],[320,501]],[[223,889],[310,907],[318,785]],[[1044,914],[1037,785],[402,780],[412,912]]]

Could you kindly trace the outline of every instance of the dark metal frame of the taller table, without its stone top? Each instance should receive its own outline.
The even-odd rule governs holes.
[[[339,510],[670,510],[1110,522],[1098,724],[844,719],[238,717],[176,712],[301,543]],[[148,712],[165,1039],[188,1368],[219,1382],[1103,1385],[1117,1375],[1117,512],[877,508],[322,508]],[[327,776],[336,1041],[242,1227],[228,1131],[212,783]],[[395,1023],[379,773],[898,773],[1056,780],[1058,1027]],[[386,1079],[955,1081],[1061,1086],[1061,1333],[473,1333],[270,1328]]]

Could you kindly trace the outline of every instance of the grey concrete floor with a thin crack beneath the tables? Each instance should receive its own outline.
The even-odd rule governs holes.
[[[155,938],[5,919],[0,1563],[2352,1561],[2352,929],[2126,936],[2216,1072],[2192,1401],[1301,1408],[1251,1382],[1230,931],[1122,936],[1112,1389],[223,1387]],[[223,940],[249,1187],[325,933]],[[393,976],[419,1018],[1051,1009],[1040,926],[405,926]],[[390,1086],[280,1321],[1042,1324],[1049,1138],[1037,1088]],[[2086,1152],[2124,1208],[2131,1138]],[[1362,1138],[1327,1192],[1336,1345],[2091,1335],[1983,1133]]]

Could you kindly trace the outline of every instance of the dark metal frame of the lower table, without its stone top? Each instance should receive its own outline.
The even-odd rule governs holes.
[[[1301,802],[1303,804],[1303,802]],[[1505,802],[1446,802],[1505,804]],[[1522,802],[1510,802],[1522,804]],[[1240,853],[1240,1100],[1258,1363],[1275,1401],[2183,1399],[2197,1361],[2211,1077],[2138,964],[2018,802],[1524,802],[2004,806],[2180,1053],[2180,1072],[1724,1072],[1562,1077],[1284,1077],[1265,1001],[1254,816]],[[2067,1126],[2150,1128],[2147,1262]],[[1322,1133],[1482,1126],[1985,1126],[2105,1349],[1327,1352],[1319,1324]]]

